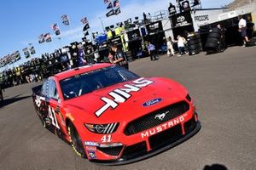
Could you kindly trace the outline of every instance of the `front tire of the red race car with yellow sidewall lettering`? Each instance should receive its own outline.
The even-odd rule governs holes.
[[[79,133],[76,130],[76,128],[73,126],[73,124],[70,122],[67,125],[67,132],[70,137],[71,146],[75,153],[79,155],[80,157],[86,158],[86,154],[84,151],[83,142],[80,139]]]

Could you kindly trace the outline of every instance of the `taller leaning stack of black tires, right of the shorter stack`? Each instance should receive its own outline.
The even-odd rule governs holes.
[[[210,31],[208,37],[207,37],[207,42],[205,46],[205,50],[207,51],[207,54],[212,54],[212,53],[218,53],[220,52],[220,30],[218,28],[213,28],[212,31]]]

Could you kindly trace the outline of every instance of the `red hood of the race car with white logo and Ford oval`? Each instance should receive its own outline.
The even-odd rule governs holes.
[[[170,79],[139,80],[144,81],[144,84],[136,83],[137,80],[122,82],[67,100],[66,105],[71,112],[79,111],[77,114],[82,122],[124,122],[181,101],[188,93],[180,84]],[[127,87],[133,87],[134,91],[129,92]]]

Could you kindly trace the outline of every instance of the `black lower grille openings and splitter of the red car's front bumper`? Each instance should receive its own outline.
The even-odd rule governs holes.
[[[179,133],[182,129],[184,129],[185,133]],[[148,140],[150,141],[150,150],[148,150],[148,142],[146,143],[146,141],[142,141],[137,144],[119,148],[121,156],[117,159],[90,159],[90,161],[102,165],[122,165],[140,161],[150,156],[157,155],[165,150],[169,150],[177,144],[181,144],[183,141],[194,136],[200,129],[201,122],[197,121],[197,114],[195,114],[188,122],[184,122],[183,124],[179,124],[148,137]]]

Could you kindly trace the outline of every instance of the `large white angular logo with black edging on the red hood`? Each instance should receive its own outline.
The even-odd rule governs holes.
[[[125,84],[124,88],[118,88],[110,92],[112,98],[102,97],[102,101],[105,105],[102,106],[98,111],[95,112],[96,116],[101,116],[104,111],[107,111],[108,108],[115,109],[119,106],[119,103],[124,103],[127,99],[131,97],[131,92],[138,92],[141,88],[148,86],[153,83],[150,80],[144,78],[139,78],[132,82],[132,84]]]

